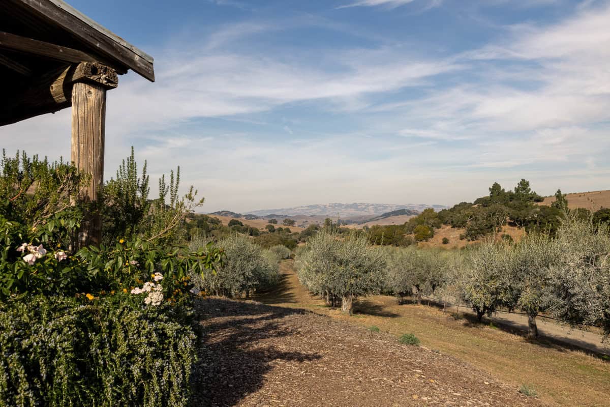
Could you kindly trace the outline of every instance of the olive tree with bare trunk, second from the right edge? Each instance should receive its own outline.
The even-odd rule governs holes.
[[[547,311],[551,283],[550,268],[558,259],[556,242],[544,234],[528,234],[512,250],[512,283],[514,297],[509,308],[528,315],[528,337],[538,336],[536,316]]]

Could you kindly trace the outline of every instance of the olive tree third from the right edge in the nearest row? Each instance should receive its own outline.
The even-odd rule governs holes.
[[[506,242],[484,240],[468,253],[464,270],[462,297],[480,321],[491,316],[498,306],[511,303],[511,246]]]

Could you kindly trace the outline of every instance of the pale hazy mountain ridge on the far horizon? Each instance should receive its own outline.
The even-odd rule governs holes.
[[[289,214],[306,215],[306,216],[325,216],[350,218],[350,217],[376,217],[382,214],[387,214],[401,209],[422,212],[424,209],[431,207],[435,211],[447,208],[443,205],[428,205],[428,204],[371,204],[371,203],[329,203],[329,204],[314,204],[295,207],[284,207],[275,209],[260,209],[259,211],[249,211],[248,214],[267,217],[270,214]],[[390,215],[392,216],[392,215]]]

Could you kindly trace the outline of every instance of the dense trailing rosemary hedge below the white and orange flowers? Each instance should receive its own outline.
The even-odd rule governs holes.
[[[1,406],[187,405],[196,357],[187,314],[82,301],[0,303]]]

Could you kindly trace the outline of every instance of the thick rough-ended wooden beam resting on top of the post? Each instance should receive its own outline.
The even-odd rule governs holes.
[[[6,106],[0,109],[0,126],[70,107],[74,82],[112,89],[118,85],[118,75],[98,62],[81,62],[45,74],[13,97],[4,98]]]

